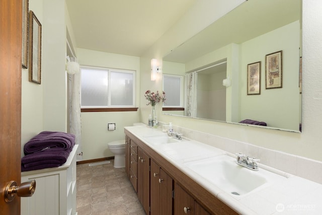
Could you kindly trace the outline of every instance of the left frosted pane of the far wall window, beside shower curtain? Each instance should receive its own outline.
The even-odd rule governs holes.
[[[82,68],[82,106],[108,106],[108,71]]]

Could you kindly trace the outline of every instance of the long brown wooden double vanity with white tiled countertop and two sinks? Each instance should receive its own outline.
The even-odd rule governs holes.
[[[321,184],[161,129],[133,126],[124,131],[126,173],[146,214],[320,211],[322,196],[308,191],[322,191]],[[302,201],[304,194],[311,195]]]

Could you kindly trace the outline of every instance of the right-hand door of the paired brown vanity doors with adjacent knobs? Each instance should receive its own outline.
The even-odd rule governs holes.
[[[164,214],[164,215],[172,214],[173,180],[163,169],[160,169],[159,183],[160,183],[160,214]]]

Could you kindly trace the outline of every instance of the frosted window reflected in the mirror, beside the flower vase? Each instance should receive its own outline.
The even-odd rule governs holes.
[[[163,89],[166,93],[164,107],[182,107],[182,76],[163,76]]]

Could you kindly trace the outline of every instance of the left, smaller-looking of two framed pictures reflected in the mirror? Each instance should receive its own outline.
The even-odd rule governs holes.
[[[261,61],[247,65],[247,95],[261,94]]]

